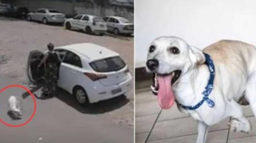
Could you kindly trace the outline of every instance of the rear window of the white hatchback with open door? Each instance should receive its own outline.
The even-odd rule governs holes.
[[[94,61],[90,63],[90,66],[96,72],[113,72],[120,70],[126,66],[125,62],[118,56],[118,57],[110,57],[101,59],[98,61]]]

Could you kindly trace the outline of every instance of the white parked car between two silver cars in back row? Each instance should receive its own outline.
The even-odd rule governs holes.
[[[85,33],[99,33],[103,34],[107,31],[107,23],[100,17],[87,14],[79,14],[74,18],[65,20],[66,29],[79,29],[85,31]]]

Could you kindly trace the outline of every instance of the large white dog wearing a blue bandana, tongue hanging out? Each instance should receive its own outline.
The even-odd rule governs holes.
[[[201,51],[179,37],[159,37],[148,49],[146,65],[156,73],[152,89],[160,106],[168,109],[176,101],[198,121],[197,143],[205,143],[208,126],[227,117],[233,131],[251,130],[239,103],[247,100],[256,114],[254,46],[221,40]]]

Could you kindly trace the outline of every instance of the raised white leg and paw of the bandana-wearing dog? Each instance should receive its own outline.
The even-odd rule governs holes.
[[[226,112],[228,117],[232,117],[229,122],[232,131],[248,133],[251,130],[250,122],[244,117],[243,109],[236,101],[231,100],[227,104]]]

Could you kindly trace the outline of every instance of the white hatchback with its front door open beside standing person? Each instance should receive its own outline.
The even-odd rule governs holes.
[[[80,104],[127,95],[131,89],[131,74],[118,53],[92,43],[56,47],[55,51],[62,58],[57,86],[75,95]],[[43,52],[38,50],[29,54],[31,82],[42,79],[44,70],[37,68],[42,58]]]

